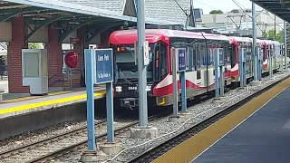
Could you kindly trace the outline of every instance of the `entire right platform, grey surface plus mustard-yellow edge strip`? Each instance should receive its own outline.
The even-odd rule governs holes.
[[[289,86],[288,78],[153,162],[288,162]]]

